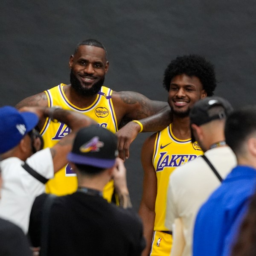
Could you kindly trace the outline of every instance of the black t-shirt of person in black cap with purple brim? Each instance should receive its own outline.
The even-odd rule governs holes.
[[[33,246],[40,246],[41,216],[46,194],[35,199],[29,223]],[[132,209],[109,204],[83,192],[57,197],[49,218],[49,256],[140,255],[143,226]]]

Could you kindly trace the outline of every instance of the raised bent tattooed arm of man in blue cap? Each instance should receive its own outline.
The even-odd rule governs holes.
[[[52,153],[54,172],[67,164],[67,154],[71,151],[76,132],[85,126],[96,122],[89,117],[74,111],[56,108],[23,107],[20,111],[30,111],[38,115],[39,119],[50,117],[64,122],[71,128],[71,133],[63,137],[57,144],[50,148]]]

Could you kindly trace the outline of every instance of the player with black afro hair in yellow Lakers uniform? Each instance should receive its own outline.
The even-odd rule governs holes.
[[[163,85],[169,92],[172,123],[143,144],[143,197],[139,213],[147,241],[143,256],[169,256],[172,233],[165,227],[169,175],[177,166],[203,154],[191,143],[189,111],[216,87],[214,67],[199,55],[177,57],[165,70]]]

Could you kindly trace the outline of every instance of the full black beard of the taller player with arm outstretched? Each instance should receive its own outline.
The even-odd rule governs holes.
[[[76,76],[73,74],[73,71],[70,71],[70,84],[71,87],[78,93],[79,95],[82,96],[93,96],[97,94],[105,80],[105,76],[103,76],[99,81],[97,81],[95,84],[93,84],[92,87],[89,89],[84,88],[81,86],[81,82],[76,78]]]

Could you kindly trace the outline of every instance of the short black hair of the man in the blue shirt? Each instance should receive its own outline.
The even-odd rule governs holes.
[[[242,154],[246,139],[256,134],[256,105],[246,106],[227,117],[225,138],[236,155]]]

